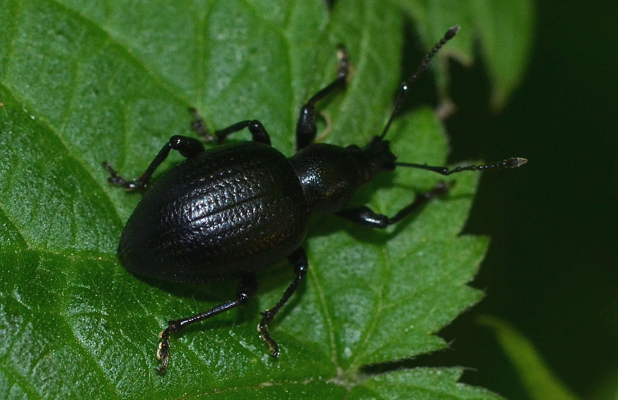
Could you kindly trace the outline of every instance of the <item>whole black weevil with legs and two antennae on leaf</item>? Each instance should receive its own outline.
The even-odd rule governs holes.
[[[513,158],[491,165],[470,165],[449,170],[396,162],[384,140],[405,94],[423,72],[439,48],[455,36],[452,27],[426,54],[415,73],[399,88],[395,107],[381,135],[373,137],[365,148],[331,144],[312,144],[316,136],[315,103],[345,86],[348,57],[339,49],[336,79],[316,93],[300,110],[296,126],[298,152],[286,158],[270,146],[270,138],[260,121],[241,121],[209,134],[197,112],[192,127],[205,141],[221,143],[231,133],[248,128],[252,142],[228,144],[205,151],[197,139],[172,136],[146,171],[129,181],[104,162],[111,174],[109,182],[128,190],[145,189],[155,169],[174,149],[186,157],[149,187],[122,231],[118,256],[129,271],[173,282],[199,284],[229,277],[240,279],[236,298],[208,311],[169,321],[161,332],[157,352],[162,361],[158,372],[167,368],[169,336],[192,323],[247,303],[258,292],[255,272],[286,258],[294,264],[296,277],[279,302],[262,313],[258,330],[273,357],[279,346],[271,338],[268,324],[289,300],[307,274],[307,254],[302,242],[308,220],[316,212],[328,212],[371,228],[385,228],[409,215],[435,196],[445,194],[440,183],[394,217],[377,214],[368,207],[344,209],[360,186],[376,173],[396,166],[413,167],[449,175],[464,170],[515,168],[526,159]]]

